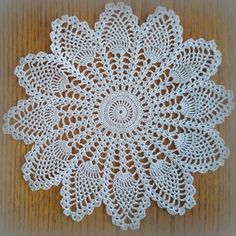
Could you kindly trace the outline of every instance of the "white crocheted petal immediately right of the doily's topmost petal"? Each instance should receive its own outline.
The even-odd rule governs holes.
[[[164,7],[157,7],[142,24],[141,30],[144,56],[152,62],[170,60],[171,54],[182,43],[183,29],[179,25],[179,17]]]

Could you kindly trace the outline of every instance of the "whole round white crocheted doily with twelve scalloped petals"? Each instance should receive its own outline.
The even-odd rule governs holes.
[[[62,183],[61,206],[80,221],[103,202],[112,222],[139,228],[150,200],[170,214],[195,205],[193,172],[229,155],[214,129],[234,108],[216,85],[214,41],[183,42],[179,17],[158,7],[141,26],[106,5],[95,29],[75,16],[52,23],[52,54],[28,54],[15,74],[29,98],[4,115],[26,144],[32,190]]]

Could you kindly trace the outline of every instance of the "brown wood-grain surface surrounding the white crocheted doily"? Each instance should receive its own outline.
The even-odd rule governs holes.
[[[1,0],[0,1],[0,115],[20,98],[13,71],[21,56],[49,52],[50,23],[63,14],[76,15],[93,27],[106,1]],[[180,16],[184,39],[214,39],[223,62],[214,76],[217,83],[236,91],[236,1],[181,0],[125,1],[143,22],[157,5],[172,8]],[[236,235],[236,116],[235,111],[217,127],[231,156],[217,172],[195,174],[197,206],[180,216],[170,216],[154,203],[138,231],[124,232],[111,223],[105,207],[97,208],[81,223],[62,213],[59,187],[31,192],[22,178],[24,154],[30,149],[21,141],[0,134],[0,235]],[[234,233],[235,231],[235,233]]]

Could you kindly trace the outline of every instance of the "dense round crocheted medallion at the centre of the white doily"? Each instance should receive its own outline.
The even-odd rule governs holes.
[[[99,118],[106,129],[117,133],[129,133],[142,119],[142,106],[137,97],[130,92],[113,92],[102,100]]]

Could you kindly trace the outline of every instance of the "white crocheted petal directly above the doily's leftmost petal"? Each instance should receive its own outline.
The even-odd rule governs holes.
[[[73,73],[76,72],[63,59],[43,52],[28,54],[15,69],[19,84],[33,96],[38,93],[57,95],[65,91]]]

